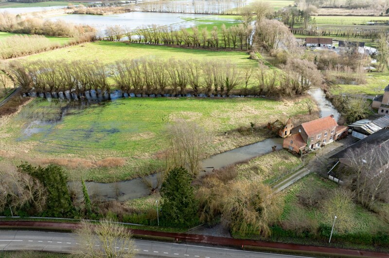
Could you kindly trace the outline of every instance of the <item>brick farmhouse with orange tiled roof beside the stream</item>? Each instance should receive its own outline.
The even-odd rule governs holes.
[[[347,134],[348,127],[339,126],[333,115],[306,122],[291,130],[283,140],[283,147],[306,153],[320,146],[332,143]]]

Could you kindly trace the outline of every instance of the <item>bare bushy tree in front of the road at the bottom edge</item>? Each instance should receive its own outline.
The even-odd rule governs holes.
[[[82,221],[75,232],[79,244],[74,249],[74,255],[83,258],[136,256],[132,232],[112,220],[101,220],[98,224]]]

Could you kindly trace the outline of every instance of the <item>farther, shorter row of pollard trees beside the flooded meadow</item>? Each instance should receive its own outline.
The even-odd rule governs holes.
[[[252,44],[253,27],[250,24],[248,26],[239,24],[230,27],[223,24],[220,30],[216,26],[211,31],[207,27],[202,29],[193,27],[189,32],[186,28],[175,29],[172,26],[161,27],[156,24],[142,26],[135,31],[115,25],[106,29],[106,35],[112,41],[119,41],[126,36],[134,43],[176,45],[192,48],[249,49]]]

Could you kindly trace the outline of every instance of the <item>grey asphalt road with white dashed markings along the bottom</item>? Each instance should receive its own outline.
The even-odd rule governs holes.
[[[0,231],[0,250],[35,250],[71,253],[77,236],[70,233]],[[298,256],[250,252],[222,247],[135,240],[137,257],[174,258],[292,258]],[[98,248],[98,246],[96,246]]]

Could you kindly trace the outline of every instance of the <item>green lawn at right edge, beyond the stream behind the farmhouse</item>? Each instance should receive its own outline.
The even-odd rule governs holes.
[[[332,94],[367,94],[376,96],[384,94],[384,88],[389,83],[389,73],[368,73],[365,84],[339,84],[331,89]]]

